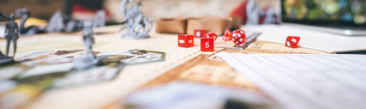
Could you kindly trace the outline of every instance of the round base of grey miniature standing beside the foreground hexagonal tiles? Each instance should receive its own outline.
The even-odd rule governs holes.
[[[74,69],[83,70],[88,69],[98,64],[98,59],[96,58],[75,58],[74,61]]]

